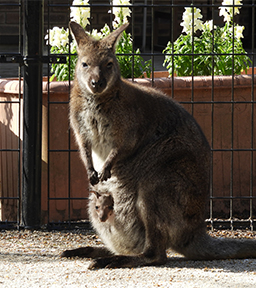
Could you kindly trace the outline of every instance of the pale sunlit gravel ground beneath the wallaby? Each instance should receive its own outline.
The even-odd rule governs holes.
[[[212,236],[256,239],[256,231]],[[65,259],[65,249],[102,245],[92,231],[0,232],[0,287],[256,287],[256,259],[187,261],[168,251],[160,267],[88,270],[88,259]]]

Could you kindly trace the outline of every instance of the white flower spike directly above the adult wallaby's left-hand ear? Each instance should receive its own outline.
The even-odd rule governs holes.
[[[88,5],[89,0],[74,0],[72,5]],[[83,28],[90,24],[90,7],[71,7],[70,18],[79,23]]]

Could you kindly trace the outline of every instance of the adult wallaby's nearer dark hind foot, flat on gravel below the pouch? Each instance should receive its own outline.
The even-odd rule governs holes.
[[[133,268],[138,266],[152,266],[152,265],[163,265],[167,261],[166,257],[152,259],[147,258],[143,254],[138,256],[124,256],[116,255],[106,258],[94,259],[89,265],[88,269],[99,269],[99,268]]]

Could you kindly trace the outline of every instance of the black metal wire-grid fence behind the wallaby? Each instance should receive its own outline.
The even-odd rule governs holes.
[[[60,50],[51,50],[44,37],[48,35],[50,44],[55,43],[49,31],[54,26],[67,29],[70,8],[73,11],[89,8],[89,31],[99,31],[105,23],[113,29],[113,12],[129,8],[128,32],[133,38],[133,51],[127,53],[126,50],[125,56],[127,59],[126,54],[132,56],[126,61],[127,65],[132,63],[131,77],[137,77],[134,76],[137,61],[134,51],[139,47],[143,59],[151,61],[154,73],[148,79],[134,80],[156,86],[183,103],[211,144],[209,226],[255,229],[255,1],[143,0],[130,1],[129,6],[120,3],[1,1],[0,8],[15,10],[20,20],[18,52],[2,51],[0,45],[0,228],[47,225],[53,229],[87,224],[87,176],[68,124],[71,39],[63,40],[67,41],[67,50],[60,53]],[[187,14],[183,14],[185,7],[189,8]],[[203,18],[199,10],[191,7],[199,8]],[[220,11],[224,16],[219,16]],[[235,14],[234,21],[223,21],[223,17]],[[207,20],[213,20],[212,24],[207,22],[212,26],[200,26]],[[218,29],[225,23],[226,34],[218,34],[224,33]],[[239,28],[241,26],[245,29]],[[198,27],[201,31],[197,31]],[[202,38],[202,31],[206,29],[209,29],[208,38]],[[231,35],[230,43],[221,42],[227,34]],[[166,78],[162,51],[169,41],[173,46],[170,44],[165,53],[169,56],[171,76]],[[204,51],[198,51],[202,43],[209,47],[206,45]],[[249,57],[250,61],[243,57]],[[242,66],[248,61],[251,69],[247,75],[238,75],[242,70],[236,71],[239,59]],[[70,64],[66,81],[50,82],[52,65],[66,62]],[[182,74],[182,66],[190,67],[188,74]],[[18,78],[6,79],[4,71],[7,70],[8,75],[11,70]],[[165,77],[159,79],[158,70],[164,70]],[[201,73],[203,70],[208,74]],[[228,70],[230,75],[223,76],[223,71]],[[55,73],[59,75],[60,70]]]

